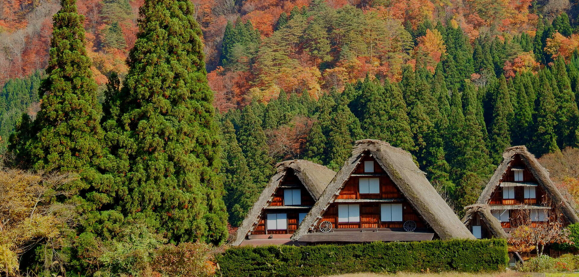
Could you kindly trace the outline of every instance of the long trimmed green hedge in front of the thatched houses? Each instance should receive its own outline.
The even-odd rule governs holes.
[[[507,267],[504,239],[242,246],[215,257],[225,277],[320,276],[351,272],[488,272]]]

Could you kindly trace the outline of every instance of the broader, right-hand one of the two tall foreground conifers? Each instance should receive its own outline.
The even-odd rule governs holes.
[[[127,64],[118,205],[173,242],[221,243],[227,213],[221,143],[193,3],[146,0]]]

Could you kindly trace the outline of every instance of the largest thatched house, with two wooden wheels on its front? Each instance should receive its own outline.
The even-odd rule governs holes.
[[[375,139],[357,141],[292,240],[474,239],[425,175],[405,150]]]

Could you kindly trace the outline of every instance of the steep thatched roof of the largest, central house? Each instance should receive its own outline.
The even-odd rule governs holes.
[[[316,228],[321,214],[337,197],[351,173],[360,163],[364,152],[369,151],[376,158],[378,164],[387,172],[398,186],[402,195],[410,202],[413,208],[426,220],[441,239],[469,238],[474,236],[460,222],[459,217],[450,209],[448,204],[437,193],[426,179],[425,173],[420,171],[412,160],[410,153],[389,143],[375,139],[357,141],[352,156],[345,162],[334,180],[328,185],[320,200],[307,214],[292,239],[299,240],[310,228]]]

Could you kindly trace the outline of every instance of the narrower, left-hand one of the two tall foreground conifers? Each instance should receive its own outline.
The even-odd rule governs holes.
[[[80,172],[82,179],[72,186],[86,190],[98,179],[96,167],[104,155],[97,84],[85,48],[84,18],[75,0],[63,0],[53,19],[49,65],[39,88],[41,110],[34,123],[20,124],[30,130],[19,131],[21,137],[14,138],[19,145],[13,149],[30,157],[36,170]]]

